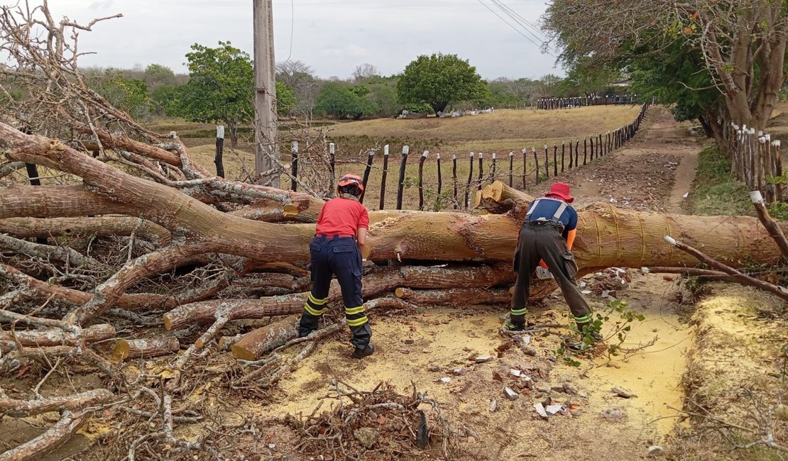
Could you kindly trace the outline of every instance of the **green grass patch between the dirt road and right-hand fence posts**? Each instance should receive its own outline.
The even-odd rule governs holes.
[[[710,146],[698,157],[697,173],[685,211],[690,215],[754,215],[749,192],[730,175],[730,159]]]

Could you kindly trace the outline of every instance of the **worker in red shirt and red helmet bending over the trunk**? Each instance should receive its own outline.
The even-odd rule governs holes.
[[[354,359],[361,359],[374,352],[370,344],[372,329],[364,313],[361,290],[362,253],[369,254],[366,230],[370,215],[359,202],[364,185],[358,175],[344,175],[338,183],[339,197],[323,205],[318,215],[318,227],[309,245],[312,265],[312,291],[303,306],[299,323],[299,337],[308,336],[318,329],[318,319],[329,302],[329,285],[336,275],[342,289],[345,318],[353,333],[351,344]]]

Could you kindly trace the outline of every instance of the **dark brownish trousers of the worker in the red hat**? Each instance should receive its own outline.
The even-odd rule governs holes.
[[[578,275],[578,264],[567,249],[562,232],[563,224],[552,220],[526,221],[522,225],[515,253],[517,282],[511,297],[511,323],[525,323],[528,293],[539,260],[544,260],[550,268],[580,330],[591,321],[591,309],[574,280]]]

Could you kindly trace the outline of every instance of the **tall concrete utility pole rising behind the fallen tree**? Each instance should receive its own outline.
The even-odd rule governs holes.
[[[259,176],[279,160],[277,85],[274,81],[273,7],[271,0],[253,0],[255,24],[255,171]],[[270,157],[266,155],[270,154]],[[279,187],[279,175],[271,180]]]

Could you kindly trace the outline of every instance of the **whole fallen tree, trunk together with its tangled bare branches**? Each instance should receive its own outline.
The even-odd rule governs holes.
[[[117,413],[138,419],[128,426],[138,431],[134,437],[131,429],[115,434],[120,445],[113,449],[129,459],[156,453],[157,444],[168,447],[169,459],[195,450],[220,456],[231,449],[229,433],[255,431],[250,422],[216,421],[199,437],[177,434],[179,423],[209,416],[190,400],[204,378],[199,373],[207,373],[195,362],[229,361],[214,376],[226,393],[266,395],[315,341],[342,330],[333,323],[296,339],[292,317],[265,326],[298,314],[306,301],[308,242],[323,201],[210,175],[176,134],[148,131],[110,105],[76,65],[76,31],[89,31],[95,21],[55,21],[46,4],[0,13],[0,52],[15,63],[0,67],[0,95],[8,98],[0,112],[0,168],[9,171],[0,178],[0,375],[23,376],[31,367],[41,375],[32,389],[6,393],[0,386],[0,417],[60,412],[49,430],[0,459],[36,459],[108,408],[113,413],[103,419]],[[24,97],[10,98],[12,90]],[[22,164],[37,166],[46,176],[42,186],[13,180],[18,175],[10,171]],[[374,315],[420,303],[505,304],[529,200],[493,183],[478,196],[489,212],[371,213],[368,309]],[[697,264],[663,242],[663,234],[680,235],[731,266],[779,260],[756,219],[598,205],[580,213],[578,263],[585,271]],[[532,291],[540,297],[552,289],[542,284]],[[340,302],[337,287],[329,298]],[[266,330],[243,337],[250,324]],[[211,355],[231,348],[241,360]],[[151,360],[156,356],[163,357]],[[51,374],[75,365],[99,372],[106,389],[39,393]],[[381,404],[377,395],[359,393],[355,403]],[[422,400],[394,403],[412,409]],[[310,437],[307,443],[326,438]],[[418,441],[414,433],[402,437]]]

